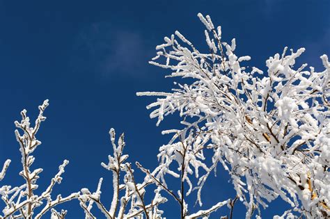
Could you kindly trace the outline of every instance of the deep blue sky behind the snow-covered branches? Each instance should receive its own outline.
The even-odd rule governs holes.
[[[93,189],[104,177],[102,200],[110,204],[111,173],[100,166],[111,153],[109,129],[125,131],[130,161],[152,169],[158,147],[168,140],[161,131],[178,127],[178,115],[155,127],[145,107],[152,97],[135,95],[173,85],[164,79],[168,72],[148,64],[164,36],[178,29],[205,48],[203,25],[196,16],[201,12],[222,26],[224,39],[237,39],[237,54],[251,56],[251,66],[265,70],[265,60],[283,47],[306,47],[301,63],[322,70],[319,57],[330,54],[329,8],[327,0],[0,1],[0,163],[13,161],[1,184],[22,182],[13,121],[23,108],[34,120],[38,105],[49,99],[47,120],[38,134],[42,145],[35,153],[34,167],[44,168],[40,184],[68,159],[55,192]],[[136,174],[141,179],[138,170]],[[204,190],[205,208],[234,196],[227,181],[219,168]],[[173,190],[175,186],[173,182]],[[64,207],[68,218],[82,218],[77,201]],[[264,216],[286,207],[276,201]],[[166,204],[164,210],[171,210],[168,218],[180,213],[176,204]],[[223,208],[214,216],[226,212]],[[244,216],[242,204],[237,204],[235,216]]]

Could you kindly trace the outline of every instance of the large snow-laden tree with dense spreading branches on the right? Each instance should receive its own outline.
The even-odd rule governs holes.
[[[150,117],[158,118],[157,125],[175,112],[184,125],[183,129],[163,132],[172,133],[173,138],[160,147],[159,166],[152,174],[145,171],[147,177],[163,185],[165,175],[180,179],[178,195],[171,195],[180,202],[181,218],[193,216],[187,213],[184,195],[195,189],[202,204],[201,189],[217,165],[228,171],[237,198],[246,206],[246,218],[260,217],[260,207],[267,208],[277,197],[292,208],[275,218],[329,217],[327,56],[321,56],[325,70],[316,72],[307,64],[295,66],[304,48],[287,54],[285,47],[281,55],[269,57],[265,67],[250,68],[244,64],[249,56],[235,54],[235,39],[223,41],[221,27],[215,27],[210,16],[198,17],[206,27],[206,52],[175,31],[157,46],[157,56],[150,61],[171,70],[168,77],[189,80],[175,82],[172,92],[137,93],[159,97],[147,106],[154,108]],[[212,152],[211,166],[204,162],[206,150]],[[173,162],[178,163],[178,169],[171,168]],[[196,186],[191,184],[193,173],[198,179]],[[225,202],[232,206],[233,201]]]

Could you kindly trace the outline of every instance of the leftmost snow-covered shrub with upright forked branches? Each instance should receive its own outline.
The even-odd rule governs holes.
[[[66,211],[62,210],[58,212],[54,207],[63,202],[76,199],[79,196],[79,193],[72,193],[65,197],[61,195],[57,195],[55,199],[52,197],[54,186],[56,184],[61,184],[64,168],[69,163],[67,160],[63,161],[58,167],[57,174],[51,179],[45,191],[39,195],[34,191],[38,188],[37,180],[39,179],[40,172],[42,172],[42,168],[31,169],[35,161],[35,157],[32,153],[41,144],[40,140],[37,140],[36,134],[38,133],[41,122],[46,119],[43,113],[47,106],[48,100],[45,100],[45,102],[39,106],[39,115],[34,127],[31,127],[30,119],[26,115],[26,110],[21,112],[21,122],[15,121],[17,127],[15,135],[19,143],[19,151],[22,155],[22,171],[19,172],[19,175],[23,177],[24,183],[21,186],[15,187],[9,185],[0,187],[1,200],[5,204],[0,218],[38,219],[50,210],[52,211],[52,219],[61,219],[64,218]],[[10,160],[8,159],[0,172],[0,181],[5,177],[9,164]]]

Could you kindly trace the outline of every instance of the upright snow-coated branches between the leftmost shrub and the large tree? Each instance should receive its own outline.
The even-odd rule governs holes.
[[[116,134],[114,129],[109,131],[113,155],[109,155],[109,163],[101,163],[103,168],[112,172],[113,176],[113,197],[110,209],[107,209],[100,200],[102,178],[99,181],[97,190],[91,193],[87,188],[81,189],[79,196],[80,206],[84,209],[86,219],[95,218],[91,209],[93,204],[102,211],[106,218],[161,218],[163,211],[158,209],[159,204],[166,202],[166,198],[160,195],[160,189],[155,190],[155,197],[150,204],[146,204],[146,186],[151,181],[144,181],[139,184],[134,179],[134,170],[131,163],[125,162],[127,154],[123,154],[125,147],[124,134],[120,135],[116,144]],[[121,179],[123,178],[123,179]],[[121,183],[123,181],[123,183]],[[122,192],[123,191],[123,192]],[[123,193],[121,196],[120,193]]]

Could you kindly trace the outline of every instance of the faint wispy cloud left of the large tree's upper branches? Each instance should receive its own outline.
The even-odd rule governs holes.
[[[153,51],[138,31],[120,29],[107,22],[91,24],[74,44],[71,65],[77,71],[102,76],[141,76]]]

